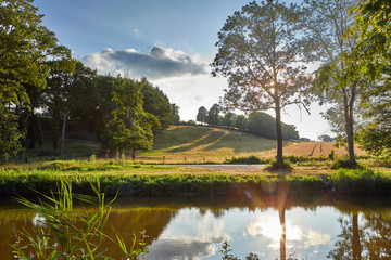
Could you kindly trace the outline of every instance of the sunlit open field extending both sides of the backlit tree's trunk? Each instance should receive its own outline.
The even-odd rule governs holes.
[[[224,162],[232,157],[257,156],[274,158],[276,140],[254,134],[211,127],[172,127],[157,135],[153,151],[141,152],[140,159],[155,162]],[[283,154],[303,157],[346,156],[345,147],[336,147],[330,142],[283,142]],[[365,152],[356,147],[357,155]]]

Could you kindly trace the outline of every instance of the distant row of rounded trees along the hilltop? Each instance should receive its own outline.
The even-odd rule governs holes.
[[[254,133],[266,139],[277,139],[276,119],[263,112],[251,113],[248,117],[232,112],[222,114],[223,107],[218,104],[207,110],[201,106],[197,114],[197,121],[207,126],[220,126]],[[293,125],[282,122],[282,138],[286,140],[299,140],[299,132]]]

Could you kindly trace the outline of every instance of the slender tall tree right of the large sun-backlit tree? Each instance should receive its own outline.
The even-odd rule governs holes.
[[[360,28],[353,29],[355,17],[349,12],[355,3],[354,0],[307,0],[304,8],[305,15],[303,15],[303,25],[311,42],[307,57],[323,62],[316,72],[314,91],[321,102],[333,105],[328,110],[330,117],[326,117],[331,125],[336,126],[336,120],[332,119],[342,118],[343,131],[339,133],[348,142],[352,164],[356,164],[355,109],[360,98],[370,87],[360,70],[345,73],[345,69],[354,62],[351,54],[358,41],[356,30]],[[342,117],[337,116],[338,114]],[[337,127],[340,126],[337,125]]]

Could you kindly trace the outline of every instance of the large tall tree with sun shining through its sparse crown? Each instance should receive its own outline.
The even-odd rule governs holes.
[[[218,34],[213,75],[229,79],[224,105],[247,112],[276,113],[277,165],[282,165],[281,109],[290,104],[306,107],[305,67],[298,62],[303,44],[298,12],[276,0],[244,5],[229,16]]]

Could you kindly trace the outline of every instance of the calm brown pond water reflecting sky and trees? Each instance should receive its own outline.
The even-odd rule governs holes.
[[[30,232],[39,216],[12,203],[0,205],[1,259],[14,259],[10,244]],[[151,252],[146,259],[222,259],[228,242],[244,259],[390,259],[391,200],[306,196],[182,197],[121,199],[110,214],[111,229],[129,234],[146,230]],[[110,246],[109,244],[105,246]],[[121,253],[110,248],[114,259]],[[361,258],[360,258],[361,256]]]

